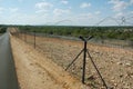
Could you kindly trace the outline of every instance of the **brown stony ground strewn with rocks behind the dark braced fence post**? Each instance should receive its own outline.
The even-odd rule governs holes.
[[[24,40],[23,37],[22,39]],[[27,36],[27,42],[32,46],[33,37]],[[83,43],[81,41],[37,37],[37,50],[43,52],[48,59],[52,59],[63,69],[66,68],[82,48]],[[110,88],[133,89],[133,49],[129,50],[94,43],[88,43],[88,48]],[[82,56],[68,71],[81,80]],[[92,89],[103,88],[89,58],[86,58],[85,82]]]

